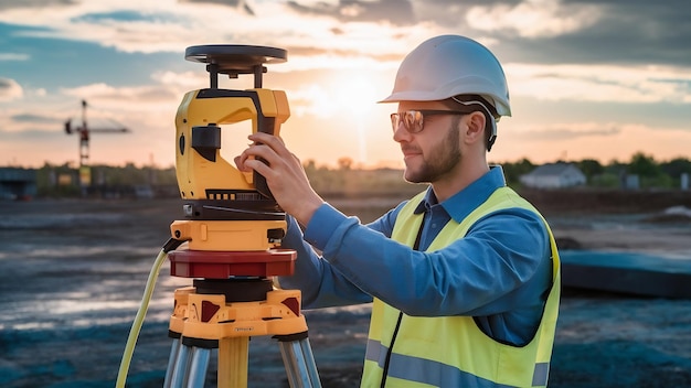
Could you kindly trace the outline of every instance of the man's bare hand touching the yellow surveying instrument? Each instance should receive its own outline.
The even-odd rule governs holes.
[[[300,160],[288,151],[278,137],[257,132],[248,139],[253,143],[235,158],[237,169],[244,172],[254,170],[262,174],[278,205],[298,223],[307,226],[323,200],[309,184]],[[266,163],[259,161],[259,158]]]

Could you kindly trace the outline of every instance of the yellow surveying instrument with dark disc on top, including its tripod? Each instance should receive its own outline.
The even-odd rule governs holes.
[[[281,90],[262,88],[262,76],[265,64],[285,62],[287,52],[201,45],[188,47],[185,60],[206,64],[211,85],[187,93],[176,115],[184,219],[171,224],[171,239],[157,261],[168,257],[170,274],[193,282],[174,291],[163,386],[203,387],[213,351],[217,386],[246,387],[249,338],[270,335],[278,341],[290,387],[321,387],[300,291],[275,289],[272,281],[291,274],[297,256],[280,248],[286,214],[262,175],[238,171],[220,153],[221,125],[252,120],[253,133],[279,133],[290,116],[288,100]],[[219,88],[220,74],[253,75],[254,88]],[[128,363],[124,357],[120,373]]]

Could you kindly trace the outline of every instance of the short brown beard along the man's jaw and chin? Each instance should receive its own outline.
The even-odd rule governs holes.
[[[456,120],[449,126],[444,139],[423,154],[417,169],[406,165],[404,177],[411,183],[432,183],[449,174],[460,163],[460,132]]]

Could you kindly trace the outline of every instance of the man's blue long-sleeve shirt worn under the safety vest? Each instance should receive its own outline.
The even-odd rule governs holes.
[[[374,297],[408,315],[475,316],[491,337],[523,345],[538,328],[552,279],[549,235],[539,215],[495,212],[464,238],[424,251],[444,225],[461,222],[503,185],[501,168],[493,166],[443,203],[428,188],[415,211],[425,213],[418,250],[390,238],[406,202],[366,226],[329,204],[317,209],[304,234],[289,217],[283,246],[297,250],[298,259],[295,273],[279,283],[301,290],[306,309]]]

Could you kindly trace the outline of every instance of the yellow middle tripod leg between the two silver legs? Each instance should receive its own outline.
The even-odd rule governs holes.
[[[219,340],[219,388],[247,387],[249,337]]]

